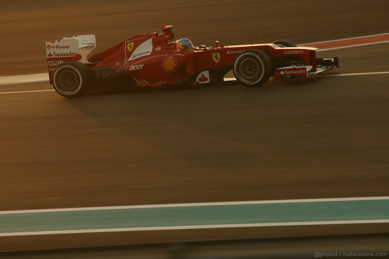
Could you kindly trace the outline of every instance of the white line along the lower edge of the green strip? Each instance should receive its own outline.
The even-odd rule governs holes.
[[[272,222],[272,223],[248,223],[248,224],[214,224],[193,226],[165,226],[165,227],[137,227],[137,228],[103,228],[103,229],[72,229],[54,231],[9,232],[0,233],[0,236],[29,236],[29,235],[56,235],[74,233],[101,233],[121,231],[152,231],[152,230],[180,230],[180,229],[206,229],[206,228],[255,228],[271,226],[309,226],[309,225],[335,225],[335,224],[371,224],[389,223],[389,219],[356,220],[356,221],[307,221],[307,222]]]

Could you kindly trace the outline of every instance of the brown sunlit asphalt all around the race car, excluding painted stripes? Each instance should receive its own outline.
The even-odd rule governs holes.
[[[23,3],[24,8],[20,9]],[[174,25],[195,45],[296,44],[388,31],[388,3],[95,1],[2,6],[0,75],[44,73],[44,42],[94,33],[96,51]],[[312,3],[312,2],[309,2]],[[27,6],[26,6],[27,5]],[[146,6],[147,5],[147,6]],[[382,7],[382,8],[378,8]],[[145,18],[146,17],[146,18]],[[185,22],[182,22],[182,20]],[[239,33],[239,34],[238,34]],[[389,44],[327,74],[389,70]],[[324,74],[323,74],[324,75]],[[0,94],[1,210],[388,196],[388,74],[91,93]],[[48,83],[1,92],[52,89]],[[388,231],[388,224],[2,238],[0,250]]]

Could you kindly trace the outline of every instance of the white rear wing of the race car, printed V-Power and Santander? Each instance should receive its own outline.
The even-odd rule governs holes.
[[[89,63],[87,58],[95,48],[96,37],[92,34],[63,37],[61,40],[55,40],[54,43],[46,41],[46,58],[50,78],[54,69],[65,61]]]

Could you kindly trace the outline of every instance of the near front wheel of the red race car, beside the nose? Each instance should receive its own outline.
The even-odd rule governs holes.
[[[235,78],[247,87],[265,84],[273,72],[269,56],[258,49],[249,49],[240,53],[233,64]]]

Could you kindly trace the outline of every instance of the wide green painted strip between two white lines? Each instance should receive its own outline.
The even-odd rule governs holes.
[[[2,214],[0,233],[377,219],[389,219],[389,200]]]

